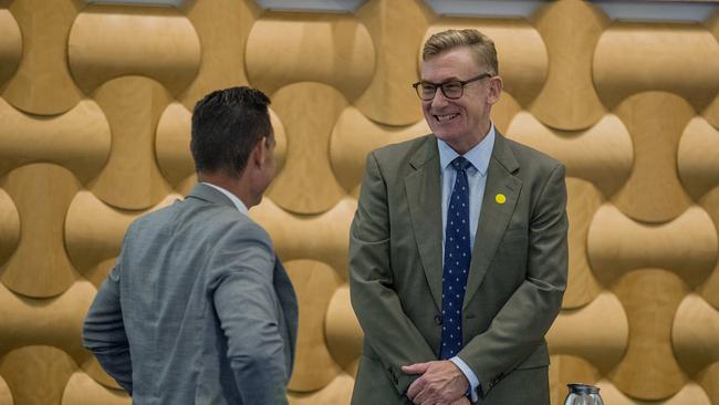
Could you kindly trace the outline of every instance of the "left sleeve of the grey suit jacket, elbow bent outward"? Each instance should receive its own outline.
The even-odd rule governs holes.
[[[129,395],[133,394],[133,363],[119,304],[121,259],[100,287],[83,325],[83,344],[100,365]]]

